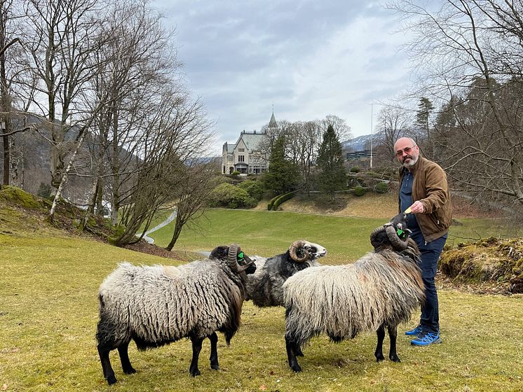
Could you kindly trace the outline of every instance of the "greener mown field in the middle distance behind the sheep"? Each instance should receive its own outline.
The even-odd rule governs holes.
[[[158,222],[160,220],[158,219]],[[276,255],[296,239],[308,239],[327,248],[325,264],[356,260],[372,250],[369,233],[386,223],[383,218],[320,216],[282,211],[210,209],[196,224],[182,230],[175,248],[186,251],[208,250],[220,244],[238,243],[247,254]],[[523,230],[505,228],[501,220],[462,219],[451,226],[447,244],[456,245],[480,237],[523,235]],[[156,225],[156,223],[154,223]],[[174,223],[149,237],[166,246]]]

